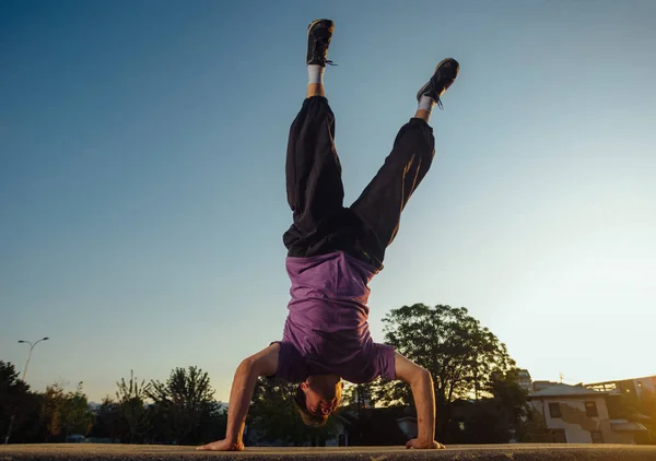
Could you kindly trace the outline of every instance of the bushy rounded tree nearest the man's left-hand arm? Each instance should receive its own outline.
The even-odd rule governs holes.
[[[175,444],[198,441],[203,415],[212,410],[214,394],[210,377],[200,368],[175,368],[166,382],[151,381],[148,397],[153,400],[154,434]]]

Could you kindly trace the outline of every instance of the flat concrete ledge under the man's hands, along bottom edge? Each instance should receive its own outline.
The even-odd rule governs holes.
[[[406,450],[403,447],[247,448],[242,452],[196,451],[194,447],[155,445],[9,445],[0,447],[0,461],[17,460],[621,460],[654,461],[656,446],[626,445],[470,445],[446,450]]]

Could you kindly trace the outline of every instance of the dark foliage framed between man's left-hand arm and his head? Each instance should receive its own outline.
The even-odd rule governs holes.
[[[339,411],[323,427],[303,423],[294,403],[297,386],[279,379],[258,378],[247,419],[251,442],[321,446],[337,434]]]

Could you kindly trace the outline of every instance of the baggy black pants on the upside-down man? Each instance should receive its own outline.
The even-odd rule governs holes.
[[[355,202],[343,206],[341,165],[335,150],[335,116],[328,101],[305,99],[290,129],[286,193],[294,223],[283,241],[291,257],[344,251],[378,269],[401,212],[435,155],[433,129],[412,118],[391,153]]]

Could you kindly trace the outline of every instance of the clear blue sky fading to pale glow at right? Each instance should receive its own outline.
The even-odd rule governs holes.
[[[280,339],[289,126],[306,26],[347,201],[437,61],[436,161],[372,283],[371,324],[466,306],[536,379],[656,374],[656,2],[0,0],[0,359],[92,400],[235,367]]]

